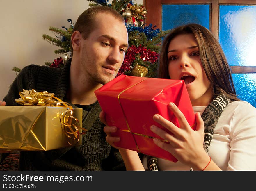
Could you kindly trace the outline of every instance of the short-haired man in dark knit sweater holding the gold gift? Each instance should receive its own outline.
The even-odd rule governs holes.
[[[29,65],[15,78],[0,105],[17,105],[22,89],[47,91],[83,108],[82,145],[64,149],[20,153],[20,170],[118,170],[124,169],[120,153],[105,139],[101,108],[94,91],[115,78],[128,48],[124,18],[112,8],[95,6],[84,11],[74,26],[72,60],[63,69]],[[5,102],[4,102],[5,101]],[[1,155],[1,161],[4,158]]]

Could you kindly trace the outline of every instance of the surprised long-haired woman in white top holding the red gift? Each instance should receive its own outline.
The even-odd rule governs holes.
[[[173,29],[163,41],[158,74],[159,78],[185,81],[197,127],[192,130],[170,103],[181,127],[157,114],[153,119],[174,135],[157,126],[151,126],[151,131],[170,142],[154,139],[178,162],[144,157],[141,163],[137,152],[119,148],[127,170],[151,169],[156,160],[159,170],[256,170],[256,108],[237,98],[223,50],[208,29],[199,24]],[[100,118],[104,121],[103,112]],[[116,127],[106,126],[104,131],[112,146],[122,141],[111,136]]]

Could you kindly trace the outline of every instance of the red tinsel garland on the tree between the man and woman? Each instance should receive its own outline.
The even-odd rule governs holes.
[[[140,58],[143,61],[149,61],[150,63],[155,63],[158,61],[158,53],[151,51],[150,49],[147,49],[147,47],[143,47],[142,45],[136,47],[132,45],[131,47],[128,48],[126,54],[125,54],[125,59],[120,67],[117,76],[121,74],[125,74],[126,71],[131,70],[131,66],[136,59],[136,54],[140,54]]]

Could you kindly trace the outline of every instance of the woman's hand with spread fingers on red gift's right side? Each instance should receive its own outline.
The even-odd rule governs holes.
[[[209,162],[209,156],[203,148],[204,121],[202,120],[200,113],[195,114],[197,126],[194,131],[190,127],[183,113],[174,103],[169,103],[168,107],[174,113],[175,117],[177,117],[180,128],[164,119],[161,115],[154,115],[153,120],[155,122],[161,124],[173,133],[173,135],[171,135],[157,126],[152,125],[151,131],[170,142],[170,144],[168,144],[155,138],[154,143],[173,154],[173,156],[175,156],[181,163],[189,165],[194,170],[202,170]]]

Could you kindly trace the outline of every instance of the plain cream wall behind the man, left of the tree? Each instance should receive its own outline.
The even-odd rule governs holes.
[[[143,4],[143,0],[133,2]],[[42,38],[42,34],[55,35],[48,30],[49,26],[68,28],[67,19],[76,21],[87,8],[86,0],[1,0],[0,100],[16,77],[13,67],[44,65],[61,56],[54,53],[57,46]]]

